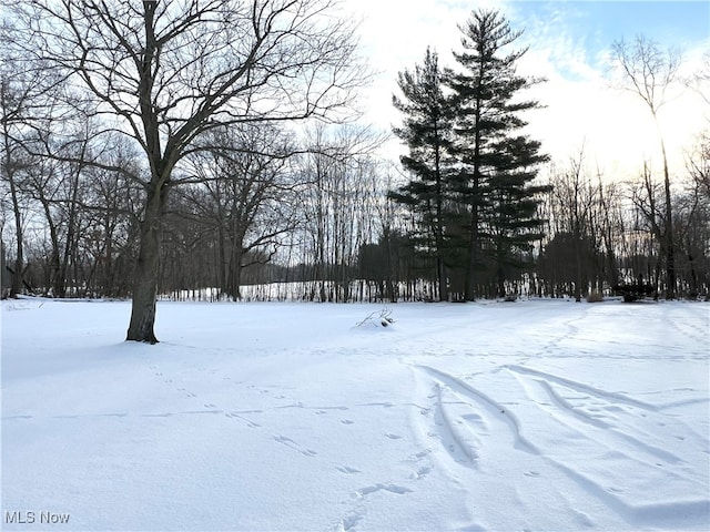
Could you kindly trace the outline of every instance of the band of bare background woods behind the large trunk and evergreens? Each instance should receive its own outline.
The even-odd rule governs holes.
[[[325,131],[320,134],[323,141]],[[538,176],[549,186],[538,205],[544,236],[515,257],[520,266],[504,275],[504,294],[494,256],[484,262],[477,297],[524,289],[551,297],[610,294],[639,274],[667,294],[658,231],[662,178],[646,165],[637,180],[613,182],[591,170],[584,155],[545,165]],[[679,297],[710,291],[710,139],[690,162],[671,198]],[[230,178],[185,185],[171,200],[160,294],[215,288],[211,297],[236,300],[244,285],[290,282],[303,284],[292,293],[303,300],[440,300],[436,256],[423,253],[412,213],[387,196],[403,181],[397,168],[368,152],[345,158],[311,153],[287,162],[266,157],[260,165],[243,161],[251,173],[230,173],[234,164],[233,157],[227,164],[219,156],[214,166],[201,163],[203,172],[226,171]],[[14,226],[4,216],[4,296],[13,295],[6,282],[22,279],[14,294],[129,298],[140,190],[115,173],[89,168],[67,180],[70,168],[59,167],[49,187],[32,175],[41,167],[29,165],[14,176],[24,259],[22,275],[13,275],[17,253],[6,243],[14,239]],[[8,200],[4,195],[6,215],[12,213]],[[452,268],[447,300],[465,300],[454,275]]]

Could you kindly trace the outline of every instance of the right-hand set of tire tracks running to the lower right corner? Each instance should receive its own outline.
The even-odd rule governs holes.
[[[649,422],[646,421],[649,416],[663,416],[665,406],[649,405],[618,392],[600,390],[530,368],[504,368],[518,380],[530,401],[545,412],[538,419],[546,419],[548,422],[552,420],[562,426],[562,429],[544,431],[566,437],[550,442],[555,444],[545,446],[550,451],[542,458],[566,473],[584,491],[604,501],[635,525],[669,520],[669,514],[682,515],[689,526],[701,523],[703,519],[707,522],[710,501],[697,497],[702,492],[703,484],[687,474],[683,468],[688,464],[671,450],[642,439],[655,434],[641,431],[640,437],[637,437],[629,433],[632,430],[639,431],[635,421]],[[581,406],[572,405],[562,397],[558,387],[577,393]],[[626,408],[619,407],[617,402]],[[613,411],[616,416],[610,416],[612,421],[599,419],[585,410],[589,403],[596,410]],[[645,413],[635,416],[633,409],[641,409]],[[578,457],[591,459],[586,464]],[[639,488],[661,483],[666,484],[666,492],[678,493],[678,500],[667,500]],[[668,490],[668,485],[674,489]]]

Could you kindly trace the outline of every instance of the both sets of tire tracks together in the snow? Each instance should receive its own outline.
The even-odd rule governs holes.
[[[432,410],[436,429],[429,436],[440,440],[454,461],[483,473],[493,472],[493,479],[500,470],[500,463],[508,464],[501,469],[508,473],[511,468],[526,468],[527,472],[521,474],[537,482],[549,482],[552,472],[557,471],[571,482],[567,488],[564,484],[554,488],[562,490],[571,510],[585,495],[590,497],[628,522],[630,528],[655,525],[665,520],[687,528],[707,523],[710,501],[702,498],[702,483],[686,474],[683,467],[687,464],[681,458],[672,450],[623,432],[625,424],[616,426],[579,411],[557,391],[557,387],[568,388],[581,396],[580,399],[586,396],[600,405],[616,407],[620,403],[627,408],[618,411],[629,416],[633,409],[640,409],[649,417],[661,416],[662,407],[530,368],[504,366],[500,369],[507,369],[513,382],[519,383],[523,396],[546,413],[535,415],[521,402],[519,413],[525,415],[521,419],[532,415],[535,420],[559,423],[557,428],[550,426],[550,430],[538,423],[527,433],[520,418],[509,407],[484,391],[432,367],[413,368],[428,376],[429,390],[434,389],[428,398],[435,400]],[[466,411],[468,413],[464,413]],[[426,433],[426,430],[422,432]],[[515,451],[524,451],[524,454]],[[660,483],[666,485],[659,492],[650,488]],[[678,495],[668,498],[663,493]]]

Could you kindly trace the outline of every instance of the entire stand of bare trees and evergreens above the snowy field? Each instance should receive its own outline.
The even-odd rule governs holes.
[[[202,13],[216,17],[213,40],[200,27],[210,2],[184,2],[184,18],[124,3],[53,13],[88,24],[71,32],[32,25],[53,9],[32,1],[2,27],[6,296],[135,298],[142,278],[144,320],[153,289],[209,300],[581,299],[642,278],[663,297],[709,293],[710,134],[698,132],[684,170],[668,167],[657,115],[683,80],[679,58],[652,41],[611,48],[656,120],[662,162],[637,154],[638,175],[622,182],[584,145],[549,161],[527,135],[545,102],[526,90],[542,81],[517,73],[520,32],[497,11],[460,25],[454,64],[427,49],[403,65],[395,163],[377,150],[382,134],[338,125],[367,75],[347,48],[353,29],[314,22],[331,2],[264,2],[263,20],[243,7]],[[220,24],[244,45],[226,53],[220,39],[232,33],[217,39]],[[145,28],[158,32],[152,50]],[[308,32],[311,48],[293,48]],[[36,39],[53,55],[29,53]],[[151,341],[138,318],[136,339]]]

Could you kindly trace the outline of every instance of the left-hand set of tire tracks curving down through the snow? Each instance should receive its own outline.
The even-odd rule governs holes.
[[[538,493],[560,474],[521,433],[508,407],[442,370],[410,368],[417,383],[414,402],[432,402],[412,415],[413,430],[428,447],[415,458],[427,462],[423,472],[436,468],[464,493],[469,524],[459,530],[501,530],[495,501],[534,511],[539,497],[525,494]],[[574,507],[556,485],[548,489],[558,493],[564,512]]]

